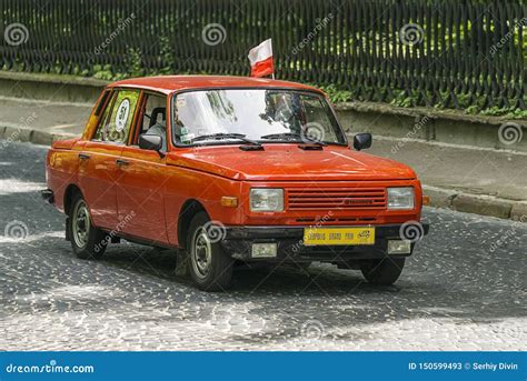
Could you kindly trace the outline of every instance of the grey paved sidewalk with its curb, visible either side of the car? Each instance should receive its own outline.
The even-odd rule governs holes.
[[[91,111],[88,103],[0,101],[0,139],[41,144],[80,134]],[[377,136],[368,152],[414,168],[432,205],[527,222],[526,153]]]

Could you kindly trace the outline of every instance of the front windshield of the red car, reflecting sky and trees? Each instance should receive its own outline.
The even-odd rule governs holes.
[[[346,143],[328,103],[315,92],[218,89],[175,97],[177,144],[242,142]]]

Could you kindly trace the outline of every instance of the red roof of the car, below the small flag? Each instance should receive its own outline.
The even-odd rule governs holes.
[[[170,94],[181,90],[226,88],[275,88],[307,90],[324,93],[317,88],[267,78],[229,76],[159,76],[126,79],[108,84],[108,88],[139,88]]]

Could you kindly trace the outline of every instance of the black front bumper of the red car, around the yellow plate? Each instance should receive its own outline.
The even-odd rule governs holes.
[[[349,262],[364,259],[381,259],[387,255],[388,240],[401,240],[402,224],[375,225],[375,244],[370,245],[304,245],[304,229],[309,227],[230,227],[226,228],[221,244],[232,258],[243,261],[329,261]],[[420,223],[422,234],[428,234],[429,224]],[[422,238],[422,237],[420,237]],[[419,239],[420,239],[419,238]],[[390,257],[408,257],[407,254],[390,254]],[[252,243],[277,243],[276,258],[252,258]]]

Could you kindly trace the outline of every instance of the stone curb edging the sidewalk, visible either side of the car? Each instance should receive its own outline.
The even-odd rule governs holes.
[[[40,146],[51,146],[56,140],[73,137],[76,136],[56,134],[13,127],[0,127],[0,139],[3,140],[0,143],[0,148],[9,142],[30,142]],[[527,222],[527,201],[470,194],[430,186],[422,186],[422,190],[424,193],[430,198],[430,207]]]

